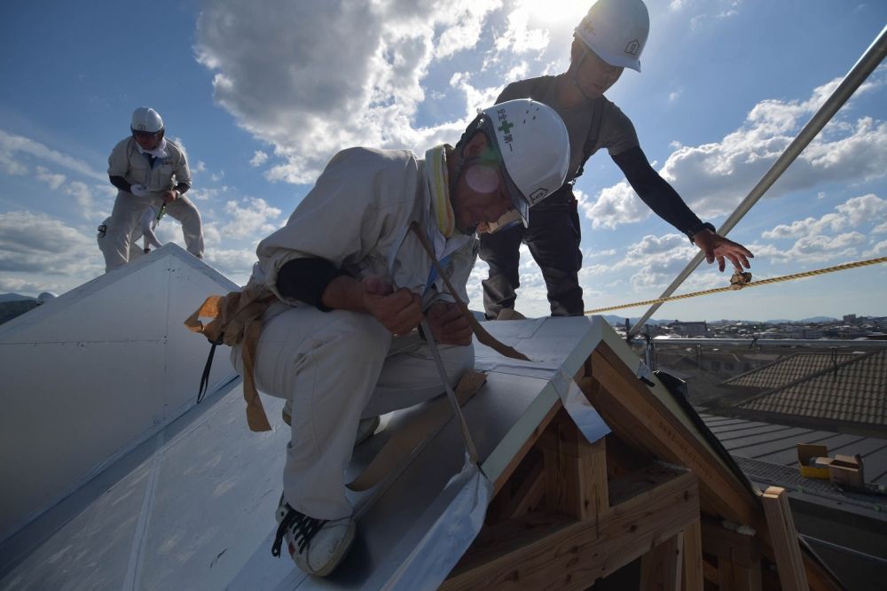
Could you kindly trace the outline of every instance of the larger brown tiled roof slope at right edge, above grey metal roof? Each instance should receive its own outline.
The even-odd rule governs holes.
[[[887,349],[820,369],[738,408],[887,426]]]

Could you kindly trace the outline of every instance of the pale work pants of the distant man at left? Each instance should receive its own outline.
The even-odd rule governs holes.
[[[122,267],[129,260],[130,235],[145,213],[148,206],[160,207],[163,200],[159,197],[137,197],[132,193],[117,191],[111,221],[107,224],[105,235],[105,272]],[[169,217],[182,224],[184,245],[189,253],[198,259],[203,258],[203,225],[200,212],[191,200],[180,195],[175,201],[166,204]]]

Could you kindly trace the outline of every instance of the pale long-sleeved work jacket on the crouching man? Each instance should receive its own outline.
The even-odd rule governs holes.
[[[277,279],[287,261],[316,257],[357,278],[381,276],[395,288],[422,296],[426,309],[453,301],[440,277],[428,285],[432,263],[407,229],[419,222],[459,298],[474,266],[476,237],[458,230],[444,238],[437,229],[425,161],[404,150],[349,148],[336,154],[287,225],[256,249],[259,261],[250,284],[263,284],[290,305],[304,305],[280,294]]]

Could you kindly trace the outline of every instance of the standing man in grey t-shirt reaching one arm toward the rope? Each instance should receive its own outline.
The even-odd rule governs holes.
[[[490,265],[482,282],[487,318],[514,314],[522,242],[542,269],[552,315],[583,314],[578,281],[581,236],[572,188],[585,162],[601,148],[607,149],[644,203],[687,234],[709,263],[717,260],[721,271],[726,260],[736,268],[750,267],[749,250],[719,236],[710,223],[696,217],[650,166],[632,121],[604,96],[624,68],[640,72],[649,26],[647,6],[641,0],[598,0],[575,29],[566,72],[513,82],[499,95],[497,102],[531,97],[551,105],[567,125],[572,155],[567,183],[533,212],[529,228],[517,226],[481,237],[480,258]]]

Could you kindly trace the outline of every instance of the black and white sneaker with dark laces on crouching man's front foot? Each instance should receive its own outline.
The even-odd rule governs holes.
[[[271,547],[273,556],[280,556],[280,547],[287,541],[289,556],[302,571],[326,577],[348,554],[357,524],[351,517],[325,521],[308,517],[293,509],[280,496],[277,510],[278,531]]]

